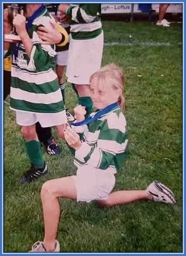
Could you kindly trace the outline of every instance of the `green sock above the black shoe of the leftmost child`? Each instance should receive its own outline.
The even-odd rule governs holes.
[[[35,168],[44,168],[45,161],[43,158],[41,143],[39,141],[26,141],[25,142],[26,151],[31,163]]]

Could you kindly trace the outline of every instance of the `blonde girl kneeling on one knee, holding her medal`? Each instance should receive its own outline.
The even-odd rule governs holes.
[[[172,191],[158,181],[153,181],[146,190],[111,192],[115,184],[114,174],[122,167],[128,143],[126,120],[122,113],[123,85],[123,72],[113,64],[91,76],[91,97],[98,111],[85,119],[85,107],[76,107],[74,128],[67,127],[64,132],[67,143],[75,149],[77,173],[49,180],[42,186],[45,238],[44,242],[36,242],[31,252],[60,251],[55,240],[60,216],[58,197],[86,202],[96,200],[100,206],[139,199],[176,202]]]

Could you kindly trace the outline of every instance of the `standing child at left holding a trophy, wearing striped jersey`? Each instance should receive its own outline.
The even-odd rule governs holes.
[[[37,3],[25,4],[24,14],[17,14],[13,19],[22,42],[13,45],[10,89],[10,107],[16,113],[16,123],[21,126],[31,162],[20,183],[30,182],[47,173],[35,124],[55,126],[58,135],[64,138],[63,125],[67,122],[55,73],[54,45],[44,45],[36,33],[41,25],[51,26],[51,16],[43,4]],[[65,35],[67,43],[66,32]]]

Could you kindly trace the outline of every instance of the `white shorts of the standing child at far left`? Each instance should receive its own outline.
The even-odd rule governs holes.
[[[65,110],[59,113],[32,113],[15,111],[16,123],[21,126],[30,126],[40,122],[42,127],[51,127],[67,123]]]

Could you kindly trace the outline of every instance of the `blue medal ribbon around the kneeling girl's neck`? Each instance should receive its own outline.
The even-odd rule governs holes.
[[[94,116],[90,116],[90,117],[86,118],[85,120],[83,120],[81,122],[71,123],[71,125],[80,126],[80,125],[90,124],[90,123],[94,122],[95,120],[97,120],[98,118],[104,116],[105,114],[107,114],[111,110],[113,110],[116,106],[118,106],[117,102],[112,103],[112,104],[108,105],[107,107],[105,107],[101,110],[98,110]]]

